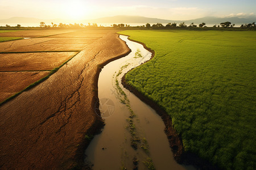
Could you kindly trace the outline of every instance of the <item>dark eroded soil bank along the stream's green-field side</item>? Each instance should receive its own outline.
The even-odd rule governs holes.
[[[126,35],[127,36],[127,35]],[[131,40],[131,39],[129,39]],[[142,42],[131,40],[134,42],[138,42],[139,44],[142,44],[144,48],[146,48],[148,51],[152,53],[151,59],[155,56],[155,51],[148,48],[146,44],[143,44]],[[126,75],[126,74],[125,74]],[[150,105],[151,108],[155,109],[156,113],[159,114],[159,116],[162,117],[162,120],[164,121],[165,133],[167,135],[168,141],[170,143],[170,147],[172,149],[172,152],[174,153],[174,159],[179,164],[187,164],[187,165],[193,165],[196,168],[199,169],[218,169],[216,166],[210,164],[208,160],[204,160],[197,156],[196,154],[193,154],[191,152],[186,152],[183,147],[183,142],[181,135],[177,133],[177,131],[172,127],[172,119],[168,115],[166,111],[164,111],[164,108],[159,107],[158,104],[156,104],[154,101],[149,99],[148,97],[144,96],[141,92],[139,92],[136,88],[133,86],[130,86],[125,79],[125,75],[122,77],[122,85],[127,90],[132,92],[135,96],[137,96],[139,99],[141,99],[144,103]]]

